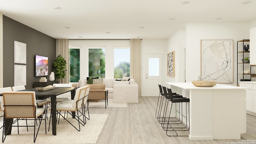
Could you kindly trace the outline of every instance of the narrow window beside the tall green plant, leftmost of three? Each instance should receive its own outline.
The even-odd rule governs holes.
[[[70,48],[70,82],[78,82],[80,79],[80,49]]]

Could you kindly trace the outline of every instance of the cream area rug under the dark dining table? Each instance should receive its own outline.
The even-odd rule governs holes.
[[[90,120],[86,120],[86,125],[80,125],[80,132],[71,126],[66,120],[60,119],[60,123],[57,124],[57,135],[52,135],[52,129],[48,132],[49,120],[46,121],[47,134],[45,134],[44,122],[40,126],[38,136],[36,138],[36,144],[96,144],[100,132],[108,118],[108,114],[90,114]],[[72,116],[68,118],[72,124],[78,126],[78,122],[72,119]],[[31,122],[30,122],[31,123]],[[2,124],[2,122],[0,123]],[[19,121],[19,125],[21,122]],[[17,128],[12,129],[12,134],[6,136],[4,144],[34,144],[34,128],[29,127],[28,132],[26,127],[19,128],[20,134],[18,134]],[[2,134],[2,129],[1,129]]]

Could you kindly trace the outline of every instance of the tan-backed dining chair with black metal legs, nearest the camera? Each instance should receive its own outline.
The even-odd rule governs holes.
[[[44,108],[37,108],[36,106],[36,94],[31,91],[22,92],[3,92],[4,100],[4,123],[3,123],[3,133],[2,142],[4,142],[7,135],[4,136],[4,132],[10,130],[11,127],[34,127],[34,142],[38,135],[38,131],[41,126],[42,120],[45,123],[45,134],[46,134],[46,111]],[[41,116],[41,118],[39,118]],[[43,119],[44,116],[44,119]],[[6,119],[17,118],[17,126],[12,125],[12,122],[8,125],[5,124]],[[36,119],[39,118],[39,126],[36,132]],[[19,120],[33,120],[34,124],[29,124],[26,126],[19,125]],[[19,129],[18,129],[19,134]]]

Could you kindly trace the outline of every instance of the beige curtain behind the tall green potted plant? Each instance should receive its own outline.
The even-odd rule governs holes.
[[[65,58],[67,64],[67,75],[65,78],[60,79],[60,84],[68,84],[69,82],[69,57],[68,57],[68,39],[58,39],[58,44],[57,44],[57,52],[56,52],[56,57],[58,55],[61,55],[63,58]]]

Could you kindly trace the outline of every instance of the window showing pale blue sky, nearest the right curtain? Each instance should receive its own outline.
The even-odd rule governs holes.
[[[114,46],[114,78],[130,76],[130,46]]]

